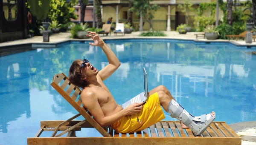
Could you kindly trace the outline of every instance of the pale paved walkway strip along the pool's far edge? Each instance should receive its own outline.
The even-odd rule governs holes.
[[[204,37],[198,37],[196,39],[196,36],[194,34],[198,34],[201,32],[188,32],[186,34],[179,34],[176,31],[163,31],[167,36],[166,37],[140,37],[140,31],[137,32],[132,32],[131,34],[125,34],[125,36],[122,36],[121,34],[114,35],[113,33],[108,36],[102,36],[104,39],[124,39],[124,38],[170,38],[170,39],[182,39],[182,40],[198,40],[198,41],[225,41],[228,42],[228,40],[207,40]],[[43,42],[43,37],[42,36],[35,36],[32,38],[24,39],[24,40],[15,40],[15,41],[9,41],[9,42],[4,42],[0,43],[1,46],[8,46],[8,45],[17,45],[17,44],[27,44],[27,43],[45,43],[45,44],[51,44],[51,43],[59,43],[63,42],[66,40],[74,40],[70,38],[71,33],[70,32],[65,32],[65,33],[59,33],[59,34],[52,34],[50,36],[50,41],[49,42]],[[78,39],[81,40],[81,39]],[[85,39],[88,40],[88,39]],[[230,42],[236,44],[236,45],[256,45],[256,42],[253,43],[245,43],[245,40],[231,40]]]

